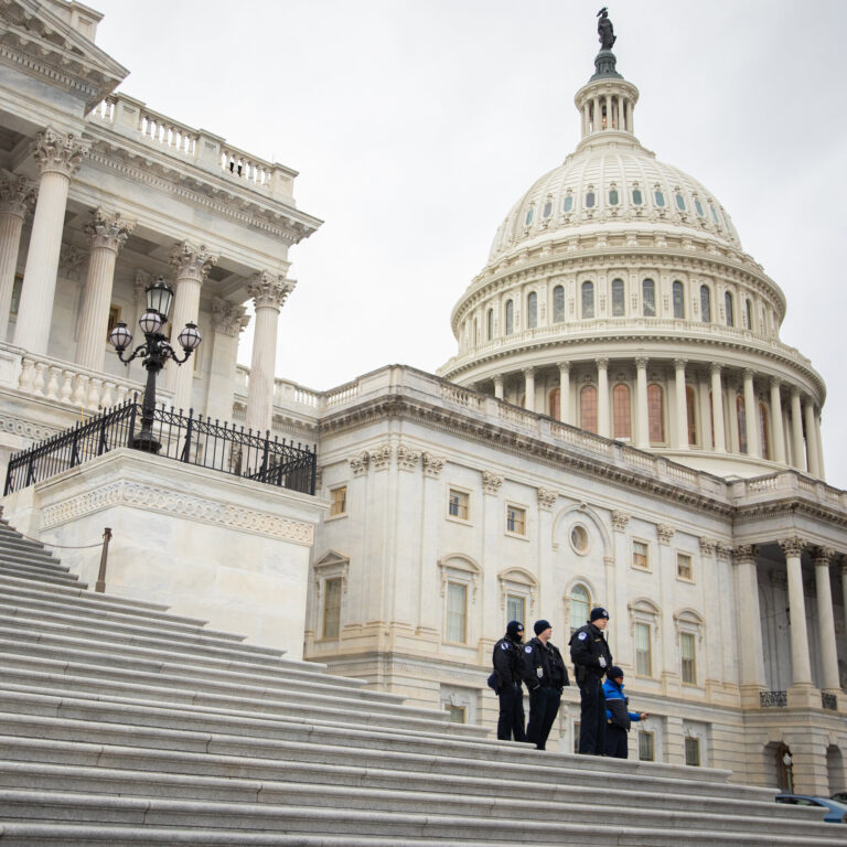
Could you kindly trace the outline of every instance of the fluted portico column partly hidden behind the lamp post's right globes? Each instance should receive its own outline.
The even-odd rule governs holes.
[[[176,335],[182,328],[192,321],[197,322],[200,313],[200,289],[212,267],[217,262],[217,256],[210,253],[205,245],[195,247],[189,242],[182,242],[171,250],[170,262],[174,269],[175,292],[173,298],[173,314],[171,318],[172,341],[176,343]],[[183,367],[178,367],[175,362],[169,362],[165,366],[168,387],[173,390],[173,407],[175,409],[191,408],[191,389],[194,375],[195,356],[190,358]]]

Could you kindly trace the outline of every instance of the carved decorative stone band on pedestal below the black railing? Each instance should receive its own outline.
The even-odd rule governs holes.
[[[311,524],[129,480],[117,480],[96,491],[88,491],[68,497],[62,503],[46,506],[42,512],[42,528],[51,529],[68,521],[114,506],[147,508],[307,546],[311,546],[314,540],[314,527]]]

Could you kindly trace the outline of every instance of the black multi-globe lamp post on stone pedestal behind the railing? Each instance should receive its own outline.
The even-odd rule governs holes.
[[[172,358],[178,365],[186,362],[189,356],[200,346],[202,341],[197,325],[186,323],[178,336],[178,341],[185,351],[180,358],[171,346],[168,337],[160,330],[168,322],[171,311],[173,290],[159,277],[156,282],[147,287],[147,311],[138,319],[138,325],[144,333],[144,343],[132,351],[132,355],[124,358],[124,351],[132,343],[132,333],[127,324],[120,321],[109,334],[109,341],[117,351],[118,358],[124,364],[129,364],[138,356],[144,356],[147,368],[147,388],[144,389],[144,403],[141,407],[141,431],[132,439],[136,450],[146,450],[149,453],[158,453],[161,443],[153,438],[153,414],[156,411],[156,377],[164,367],[164,363]]]

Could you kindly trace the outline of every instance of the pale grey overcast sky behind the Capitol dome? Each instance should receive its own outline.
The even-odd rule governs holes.
[[[121,90],[300,172],[298,205],[325,223],[289,254],[277,375],[319,389],[455,353],[450,310],[579,140],[599,47],[598,0],[89,2]],[[626,0],[610,17],[639,139],[715,193],[785,292],[781,337],[826,380],[827,480],[847,487],[847,2]]]

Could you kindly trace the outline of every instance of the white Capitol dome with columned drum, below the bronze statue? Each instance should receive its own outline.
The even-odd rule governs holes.
[[[823,379],[720,201],[634,133],[610,50],[576,94],[581,140],[512,206],[455,304],[439,374],[723,476],[823,478]],[[513,417],[517,410],[511,412]]]

